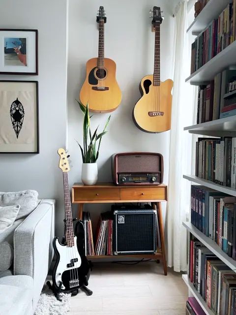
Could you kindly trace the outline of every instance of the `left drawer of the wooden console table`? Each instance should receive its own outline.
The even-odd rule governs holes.
[[[75,189],[75,201],[78,200],[119,200],[119,189]]]

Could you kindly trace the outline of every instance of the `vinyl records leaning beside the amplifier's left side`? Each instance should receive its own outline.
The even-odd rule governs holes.
[[[95,255],[113,255],[113,214],[101,213],[97,230]]]

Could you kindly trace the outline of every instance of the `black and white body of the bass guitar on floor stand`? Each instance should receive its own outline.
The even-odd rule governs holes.
[[[69,247],[59,242],[59,238],[53,240],[53,248],[57,260],[53,270],[53,283],[61,291],[71,291],[80,286],[81,257],[77,249],[77,237],[74,237],[74,246]]]

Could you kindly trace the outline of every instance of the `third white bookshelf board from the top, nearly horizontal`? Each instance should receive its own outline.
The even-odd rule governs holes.
[[[211,122],[187,126],[184,130],[190,133],[204,134],[209,136],[236,136],[236,116],[221,118]]]

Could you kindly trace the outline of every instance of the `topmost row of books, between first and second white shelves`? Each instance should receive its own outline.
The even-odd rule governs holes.
[[[236,0],[192,44],[191,73],[198,70],[236,39]]]

